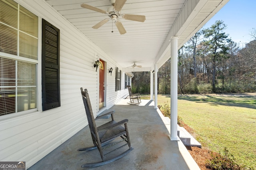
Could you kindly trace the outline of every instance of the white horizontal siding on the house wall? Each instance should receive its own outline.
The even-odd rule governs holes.
[[[107,63],[106,108],[128,96],[128,90],[124,89],[122,71],[122,90],[115,92],[115,72],[110,75],[108,69],[120,66],[52,10],[44,0],[16,2],[60,29],[61,107],[0,117],[0,161],[26,161],[26,168],[29,168],[88,125],[80,87],[88,89],[96,115],[98,72],[93,62],[99,57]]]

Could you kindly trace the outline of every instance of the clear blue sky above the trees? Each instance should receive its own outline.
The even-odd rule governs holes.
[[[249,35],[252,28],[256,29],[256,0],[229,0],[229,2],[215,14],[203,28],[208,28],[217,20],[224,21],[232,41],[244,46],[253,40]]]

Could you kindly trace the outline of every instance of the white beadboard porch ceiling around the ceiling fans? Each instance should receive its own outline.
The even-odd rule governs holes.
[[[110,0],[46,0],[46,2],[123,68],[131,66],[134,62],[143,67],[154,68],[154,64],[161,66],[170,58],[168,44],[173,29],[177,30],[174,36],[179,37],[178,48],[180,48],[228,0],[127,0],[121,14],[144,15],[146,20],[138,22],[118,18],[127,31],[124,35],[120,35],[115,23],[112,27],[111,20],[102,27],[93,29],[93,25],[108,16],[80,6],[88,4],[107,11],[111,6]],[[191,10],[186,21],[182,21],[185,18],[178,17]],[[174,28],[175,22],[180,22],[176,24],[178,29]]]

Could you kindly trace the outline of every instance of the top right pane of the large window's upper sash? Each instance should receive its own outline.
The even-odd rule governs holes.
[[[38,17],[20,6],[20,30],[38,37]]]

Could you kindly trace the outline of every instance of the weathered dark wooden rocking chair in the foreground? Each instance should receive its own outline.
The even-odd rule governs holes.
[[[101,162],[94,162],[94,163],[87,163],[87,164],[83,164],[81,167],[85,168],[85,167],[96,167],[96,166],[102,166],[104,164],[108,164],[110,162],[114,162],[115,160],[118,160],[120,158],[122,158],[123,156],[125,156],[126,154],[128,154],[130,151],[133,150],[133,148],[131,147],[130,144],[130,137],[129,137],[129,133],[128,133],[128,129],[127,129],[127,122],[128,119],[124,119],[122,121],[116,122],[114,121],[114,111],[111,111],[109,113],[106,113],[104,115],[100,115],[98,117],[96,117],[94,119],[94,115],[92,113],[92,106],[90,103],[90,98],[89,98],[89,94],[87,92],[87,89],[85,89],[83,91],[83,88],[80,88],[81,90],[81,94],[82,94],[82,98],[83,98],[83,102],[84,102],[84,107],[85,107],[85,111],[86,111],[86,116],[88,119],[88,123],[89,123],[89,127],[90,127],[90,132],[91,132],[91,136],[92,136],[92,141],[94,146],[93,147],[88,147],[88,148],[80,148],[78,149],[78,151],[88,151],[88,150],[92,150],[92,149],[96,149],[98,148],[99,152],[100,152],[100,156],[102,161]],[[108,123],[105,123],[99,127],[96,127],[96,123],[95,120],[96,119],[100,119],[101,117],[104,117],[106,115],[110,115],[112,117],[112,120],[109,121]],[[124,127],[122,126],[124,125]],[[117,137],[121,137],[122,139],[114,144],[111,144],[107,147],[104,147],[105,145],[110,144],[111,141],[113,141],[114,139],[116,139]],[[110,152],[107,153],[103,153],[104,149],[110,148],[112,146],[114,146],[115,144],[121,143],[122,141],[125,141],[125,144],[114,149],[111,150],[110,152],[116,151],[126,145],[128,145],[129,149],[122,152],[121,154],[114,156],[114,158],[109,158],[109,159],[105,159],[105,155],[109,154]]]

